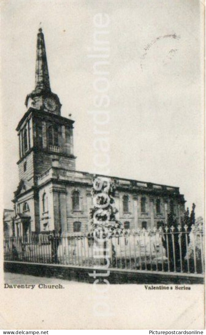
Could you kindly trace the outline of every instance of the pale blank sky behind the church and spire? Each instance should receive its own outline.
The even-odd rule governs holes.
[[[110,18],[110,175],[178,186],[204,213],[203,5],[197,0],[1,2],[4,207],[18,185],[15,128],[35,88],[43,28],[52,91],[72,114],[76,170],[94,167],[93,17]],[[174,38],[174,34],[176,38]],[[173,35],[173,37],[172,37]],[[148,48],[147,48],[148,46]],[[146,48],[146,51],[145,51]]]

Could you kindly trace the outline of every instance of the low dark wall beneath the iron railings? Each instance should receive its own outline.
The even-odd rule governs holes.
[[[52,265],[26,262],[4,262],[4,271],[13,273],[22,273],[38,277],[54,277],[93,283],[94,278],[89,276],[96,270],[99,273],[104,272],[102,269],[93,269],[92,267]],[[106,278],[110,284],[203,284],[204,275],[202,274],[185,274],[174,272],[159,271],[140,271],[109,269],[110,273]],[[105,271],[106,272],[106,271]],[[97,276],[99,279],[100,277]]]

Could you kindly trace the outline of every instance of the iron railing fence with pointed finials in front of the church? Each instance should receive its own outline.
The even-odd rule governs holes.
[[[100,240],[100,237],[102,240]],[[204,273],[203,229],[123,229],[94,237],[35,233],[4,239],[4,260],[117,269]]]

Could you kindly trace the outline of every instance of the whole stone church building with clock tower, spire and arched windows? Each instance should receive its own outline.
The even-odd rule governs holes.
[[[63,234],[86,232],[93,207],[94,174],[75,169],[74,121],[61,116],[58,95],[51,91],[41,28],[37,35],[35,85],[26,97],[27,111],[16,128],[19,185],[14,192],[11,231],[16,236],[51,230]],[[169,211],[180,221],[185,200],[178,187],[109,178],[116,186],[115,207],[125,228],[158,228]]]

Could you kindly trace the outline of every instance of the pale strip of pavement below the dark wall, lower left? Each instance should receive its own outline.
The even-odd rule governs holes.
[[[11,272],[5,272],[4,273],[4,282],[7,284],[53,284],[57,285],[60,282],[65,285],[90,285],[87,283],[81,283],[78,281],[72,281],[72,280],[65,280],[65,279],[58,279],[58,278],[47,278],[47,277],[36,277],[36,276],[29,276],[19,273],[11,273]]]

